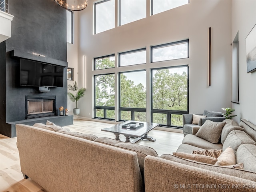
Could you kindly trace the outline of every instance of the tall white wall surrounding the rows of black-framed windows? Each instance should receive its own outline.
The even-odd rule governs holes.
[[[87,8],[78,12],[78,86],[84,85],[87,88],[86,96],[78,103],[81,108],[80,117],[92,117],[93,75],[99,72],[93,71],[93,58],[114,53],[117,61],[118,52],[144,47],[147,48],[147,64],[108,69],[102,73],[115,72],[117,77],[120,71],[144,68],[149,76],[150,68],[153,67],[189,64],[190,113],[202,113],[204,109],[222,111],[221,108],[232,106],[231,0],[190,0],[189,4],[154,16],[150,16],[148,11],[147,18],[123,26],[117,27],[116,20],[114,29],[94,35],[93,2],[89,0]],[[150,9],[150,0],[147,0],[147,8]],[[212,86],[208,86],[209,27],[212,28]],[[189,58],[150,63],[150,46],[187,38]],[[150,87],[149,78],[147,87]]]

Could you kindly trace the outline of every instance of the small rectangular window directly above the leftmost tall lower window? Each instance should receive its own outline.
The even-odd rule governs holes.
[[[94,70],[115,67],[115,55],[94,58]]]

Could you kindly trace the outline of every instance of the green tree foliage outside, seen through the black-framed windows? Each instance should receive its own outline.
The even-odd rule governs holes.
[[[114,61],[104,58],[97,62],[97,68],[114,67]],[[134,72],[136,75],[136,72]],[[164,110],[187,110],[187,74],[171,73],[169,69],[156,70],[153,76],[153,108]],[[96,106],[115,106],[115,75],[95,77]],[[146,87],[134,84],[125,73],[120,74],[120,106],[146,108]],[[96,111],[103,117],[103,110]],[[114,118],[114,111],[107,110],[107,118]],[[130,111],[122,111],[120,119],[131,120]],[[166,124],[166,114],[154,113],[153,122]],[[146,112],[135,112],[134,120],[146,121]],[[182,126],[182,115],[172,115],[172,125]]]

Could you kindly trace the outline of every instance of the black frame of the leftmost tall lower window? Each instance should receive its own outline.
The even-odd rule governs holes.
[[[115,119],[112,118],[107,118],[107,110],[114,110],[115,111],[115,106],[97,106],[96,105],[96,76],[102,76],[102,75],[113,75],[115,73],[106,73],[106,74],[96,74],[94,75],[94,118],[95,119],[104,119],[104,120],[112,120],[114,121]],[[115,90],[115,96],[116,96],[116,90]],[[96,110],[97,109],[103,109],[103,118],[102,117],[96,117]]]

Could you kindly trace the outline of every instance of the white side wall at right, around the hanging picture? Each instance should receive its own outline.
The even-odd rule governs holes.
[[[232,0],[232,38],[239,31],[239,101],[233,104],[236,121],[244,118],[256,124],[256,72],[247,73],[245,38],[256,24],[256,0]]]

